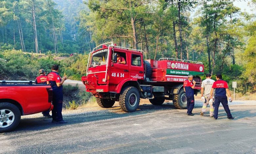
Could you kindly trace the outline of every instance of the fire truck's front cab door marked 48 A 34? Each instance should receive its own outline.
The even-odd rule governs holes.
[[[122,51],[114,51],[114,53],[120,53],[120,56],[123,57],[126,61],[126,64],[117,64],[117,63],[111,63],[110,66],[110,74],[109,74],[109,83],[110,84],[118,84],[122,80],[129,78],[129,62],[127,61],[127,52]],[[113,66],[112,66],[113,64]]]

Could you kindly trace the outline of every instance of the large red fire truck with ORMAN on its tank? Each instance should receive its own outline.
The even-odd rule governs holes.
[[[126,64],[117,63],[117,54]],[[188,74],[196,81],[195,94],[201,89],[202,62],[160,58],[144,60],[143,51],[118,47],[113,42],[102,44],[89,54],[87,76],[82,77],[86,91],[91,92],[101,107],[112,107],[119,101],[125,112],[136,111],[140,98],[153,105],[172,100],[178,109],[186,108],[183,82]]]

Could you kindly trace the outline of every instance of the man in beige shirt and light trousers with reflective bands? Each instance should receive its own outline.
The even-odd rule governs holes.
[[[202,111],[200,113],[201,116],[203,116],[203,114],[206,112],[206,108],[208,106],[208,104],[210,105],[210,117],[213,117],[213,111],[214,111],[214,107],[213,107],[213,103],[212,101],[209,102],[210,100],[210,93],[211,93],[211,88],[213,83],[215,82],[214,80],[211,79],[211,74],[207,73],[206,74],[206,79],[203,80],[202,85],[201,85],[201,97],[205,98],[205,101],[203,103],[203,107],[202,107]],[[204,92],[204,95],[203,95]]]

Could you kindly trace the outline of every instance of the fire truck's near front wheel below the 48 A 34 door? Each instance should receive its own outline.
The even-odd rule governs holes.
[[[125,112],[134,112],[139,107],[139,90],[136,87],[125,87],[119,96],[119,105]]]

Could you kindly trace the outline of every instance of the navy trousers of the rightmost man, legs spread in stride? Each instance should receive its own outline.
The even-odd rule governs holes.
[[[232,115],[231,115],[229,107],[228,107],[227,96],[215,96],[215,101],[214,101],[214,118],[215,119],[218,118],[218,111],[219,111],[220,103],[223,105],[224,110],[227,113],[227,117],[231,118]]]

